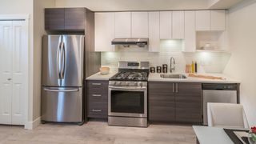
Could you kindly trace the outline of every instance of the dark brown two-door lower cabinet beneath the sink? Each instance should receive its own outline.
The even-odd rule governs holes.
[[[150,122],[202,122],[202,84],[149,82]]]

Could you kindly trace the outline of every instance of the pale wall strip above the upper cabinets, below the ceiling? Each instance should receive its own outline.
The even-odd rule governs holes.
[[[57,7],[78,6],[95,11],[206,9],[206,0],[56,0]]]

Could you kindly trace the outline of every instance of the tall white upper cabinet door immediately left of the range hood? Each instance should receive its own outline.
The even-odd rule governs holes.
[[[95,13],[95,51],[114,51],[114,13]]]

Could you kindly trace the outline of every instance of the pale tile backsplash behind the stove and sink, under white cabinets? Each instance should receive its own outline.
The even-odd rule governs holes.
[[[230,54],[220,52],[182,52],[182,40],[162,40],[158,53],[149,52],[148,48],[116,47],[115,52],[102,52],[102,66],[109,66],[112,71],[118,70],[119,61],[149,61],[150,66],[170,66],[170,58],[176,61],[177,73],[185,72],[186,64],[198,62],[199,73],[222,73]]]

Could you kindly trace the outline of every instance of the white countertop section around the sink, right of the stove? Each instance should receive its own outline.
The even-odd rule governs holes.
[[[170,74],[170,73],[167,73]],[[172,73],[175,74],[175,73]],[[149,82],[202,82],[202,83],[240,83],[238,80],[235,80],[234,78],[230,78],[226,76],[225,74],[204,74],[209,76],[215,76],[215,77],[222,77],[224,80],[218,80],[218,79],[206,79],[206,78],[192,78],[188,77],[188,74],[186,75],[187,78],[180,79],[180,78],[161,78],[160,74],[158,73],[150,73],[149,75]]]

